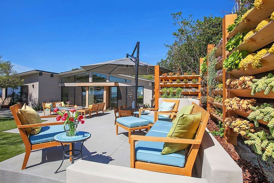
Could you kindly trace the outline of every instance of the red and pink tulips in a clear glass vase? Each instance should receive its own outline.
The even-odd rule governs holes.
[[[73,107],[70,111],[59,111],[59,109],[53,109],[54,113],[57,113],[56,120],[57,121],[65,121],[64,122],[64,130],[67,136],[75,136],[76,135],[76,128],[79,123],[84,124],[85,121],[83,120],[84,117],[79,115],[76,111],[76,108]]]

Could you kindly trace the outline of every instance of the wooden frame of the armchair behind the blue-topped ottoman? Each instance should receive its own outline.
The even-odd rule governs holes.
[[[176,112],[178,112],[180,100],[163,99],[163,101],[164,102],[175,102],[175,105],[173,106],[171,111],[157,111],[159,108],[139,109],[139,117],[141,117],[142,110],[154,110],[155,111],[154,112],[154,123],[149,123],[149,126],[153,126],[153,124],[155,124],[155,122],[156,122],[156,118],[159,117],[158,115],[163,112],[170,114],[170,118],[173,120],[174,117],[176,117],[176,115],[174,115],[174,114]]]

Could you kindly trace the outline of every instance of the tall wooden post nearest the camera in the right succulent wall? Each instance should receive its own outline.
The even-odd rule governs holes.
[[[227,54],[229,53],[228,51],[225,50],[226,44],[227,44],[227,36],[228,31],[227,27],[234,23],[234,20],[236,19],[237,14],[230,14],[230,15],[225,15],[223,18],[223,61],[227,58]],[[226,69],[223,68],[223,121],[225,120],[226,117],[229,117],[232,112],[227,111],[227,108],[224,106],[224,101],[227,98],[234,97],[231,92],[227,91],[226,88],[226,80],[229,79],[231,76],[230,74],[226,73]],[[237,145],[237,136],[231,136],[228,133],[228,129],[224,131],[224,140],[226,144],[232,144],[232,145]]]

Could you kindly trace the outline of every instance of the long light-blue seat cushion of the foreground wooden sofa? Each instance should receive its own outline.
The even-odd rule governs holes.
[[[166,137],[167,133],[149,130],[146,136]],[[151,163],[159,163],[164,165],[184,167],[185,150],[162,155],[161,152],[163,150],[163,144],[164,142],[140,141],[135,146],[135,159],[139,161],[146,161]]]

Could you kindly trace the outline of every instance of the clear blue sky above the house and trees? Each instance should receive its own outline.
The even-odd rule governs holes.
[[[140,41],[140,60],[156,64],[173,42],[171,13],[200,19],[223,16],[229,0],[179,1],[2,1],[2,59],[18,72],[63,72],[120,59]]]

